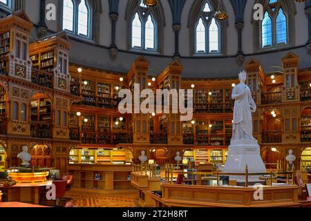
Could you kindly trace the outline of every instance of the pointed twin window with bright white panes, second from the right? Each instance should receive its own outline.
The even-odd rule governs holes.
[[[189,15],[191,54],[223,54],[224,23],[215,19],[218,5],[214,1],[195,1]],[[194,24],[194,25],[192,25]]]

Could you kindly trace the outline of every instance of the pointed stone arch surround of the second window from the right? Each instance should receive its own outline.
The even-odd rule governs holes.
[[[216,11],[218,8],[219,1],[218,0],[198,0],[194,1],[192,3],[192,6],[189,11],[188,21],[187,21],[187,27],[189,28],[189,49],[190,49],[190,55],[194,55],[195,52],[195,25],[196,21],[198,20],[198,15],[200,11],[202,10],[202,6],[208,2],[209,6],[211,6],[212,11]],[[224,5],[225,7],[225,5]],[[226,19],[225,21],[218,21],[220,26],[220,53],[223,55],[227,54],[227,26],[229,26],[229,23]]]

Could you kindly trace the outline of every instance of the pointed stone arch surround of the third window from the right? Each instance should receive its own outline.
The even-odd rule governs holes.
[[[141,0],[128,0],[126,3],[125,10],[125,21],[126,21],[126,48],[127,50],[131,49],[131,21],[133,19],[133,15],[138,10],[139,4]],[[158,1],[156,6],[153,6],[147,10],[147,13],[153,16],[153,19],[156,21],[156,41],[158,46],[158,52],[162,54],[164,48],[164,26],[165,23],[165,15],[162,7],[162,3]]]

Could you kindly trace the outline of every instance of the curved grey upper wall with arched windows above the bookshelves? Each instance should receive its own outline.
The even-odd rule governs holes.
[[[103,70],[126,73],[144,55],[151,75],[177,57],[183,77],[235,77],[252,58],[269,73],[288,52],[299,55],[300,68],[309,66],[310,1],[223,1],[225,21],[215,17],[219,0],[157,2],[149,8],[142,0],[3,0],[0,10],[23,8],[35,26],[32,39],[66,31],[70,61]],[[259,19],[256,3],[263,6]]]

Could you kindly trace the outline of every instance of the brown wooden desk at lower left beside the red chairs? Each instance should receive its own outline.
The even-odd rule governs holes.
[[[2,188],[3,195],[6,195],[7,202],[26,202],[39,204],[40,190],[52,184],[52,180],[37,183],[21,183],[15,186]],[[2,197],[3,198],[3,197]]]

